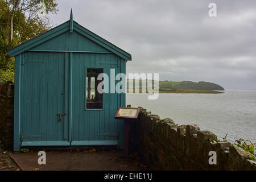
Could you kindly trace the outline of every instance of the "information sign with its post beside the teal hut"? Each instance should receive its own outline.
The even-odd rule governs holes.
[[[129,131],[130,122],[136,120],[139,115],[139,108],[137,107],[119,107],[115,114],[115,119],[125,120],[125,147],[124,156],[129,157]]]

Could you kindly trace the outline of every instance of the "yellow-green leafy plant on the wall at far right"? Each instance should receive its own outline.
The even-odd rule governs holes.
[[[247,143],[246,143],[247,142]],[[252,143],[250,140],[244,140],[240,138],[239,140],[236,140],[236,143],[234,143],[236,146],[243,148],[244,150],[250,152],[253,156],[247,155],[246,157],[251,160],[256,160],[256,148],[255,144]]]

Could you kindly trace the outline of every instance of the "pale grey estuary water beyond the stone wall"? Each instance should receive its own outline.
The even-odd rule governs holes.
[[[225,90],[223,94],[160,93],[157,100],[148,94],[126,94],[126,103],[142,106],[171,118],[179,125],[197,124],[200,130],[212,131],[222,139],[228,134],[230,142],[250,139],[256,142],[256,90]]]

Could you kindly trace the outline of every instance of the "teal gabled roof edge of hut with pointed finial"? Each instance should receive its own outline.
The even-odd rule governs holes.
[[[110,52],[113,52],[115,55],[118,55],[125,60],[131,60],[130,53],[123,51],[123,49],[115,46],[114,44],[108,42],[107,40],[94,34],[92,31],[89,31],[85,27],[82,27],[79,23],[75,22],[73,20],[72,10],[71,10],[70,19],[67,22],[64,22],[63,24],[60,24],[59,26],[56,26],[55,28],[52,28],[51,30],[44,32],[43,34],[40,34],[35,38],[32,38],[10,49],[8,52],[8,55],[9,56],[19,55],[22,52],[28,51],[36,46],[39,46],[40,44],[47,42],[48,40],[53,39],[63,34],[64,32],[68,32],[68,31],[69,32],[76,31],[79,34],[85,36],[86,38],[92,40],[93,42],[99,44],[100,46],[108,49]]]

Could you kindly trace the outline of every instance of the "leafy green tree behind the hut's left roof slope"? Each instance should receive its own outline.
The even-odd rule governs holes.
[[[44,15],[40,15],[44,5]],[[55,0],[0,0],[0,81],[14,80],[14,59],[9,49],[51,28],[48,14],[56,13]]]

